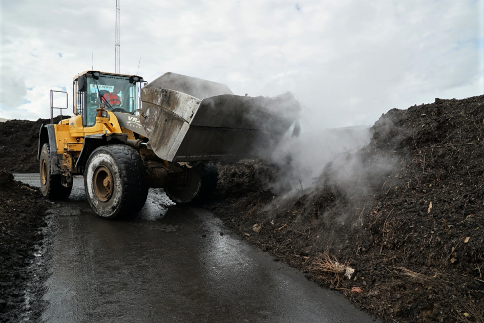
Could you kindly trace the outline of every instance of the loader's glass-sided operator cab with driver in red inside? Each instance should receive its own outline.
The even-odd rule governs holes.
[[[141,76],[86,71],[74,77],[74,112],[82,115],[82,125],[96,123],[96,109],[104,103],[113,112],[135,113],[141,107],[139,93],[146,84]]]

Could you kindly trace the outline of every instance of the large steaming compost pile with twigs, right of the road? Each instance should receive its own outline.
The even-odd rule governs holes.
[[[274,165],[222,166],[208,207],[388,321],[483,322],[484,96],[392,109],[371,131],[286,196]]]

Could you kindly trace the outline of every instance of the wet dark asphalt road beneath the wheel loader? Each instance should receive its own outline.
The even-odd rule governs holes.
[[[15,178],[39,185],[38,174]],[[160,189],[125,222],[95,216],[82,177],[56,203],[45,322],[374,322]]]

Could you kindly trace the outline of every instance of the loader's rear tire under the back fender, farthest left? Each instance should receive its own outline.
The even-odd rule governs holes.
[[[67,199],[71,195],[72,181],[68,186],[61,184],[61,175],[52,175],[50,148],[49,144],[45,143],[40,151],[39,173],[40,173],[40,190],[42,195],[49,200]]]

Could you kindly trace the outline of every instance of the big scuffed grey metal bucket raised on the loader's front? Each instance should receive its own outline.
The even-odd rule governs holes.
[[[155,154],[167,161],[267,157],[299,115],[299,102],[290,93],[245,97],[220,83],[163,76],[141,91],[140,123]]]

